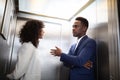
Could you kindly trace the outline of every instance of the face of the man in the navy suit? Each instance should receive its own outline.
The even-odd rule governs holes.
[[[86,27],[81,24],[81,21],[75,20],[72,32],[74,37],[80,38],[86,33]]]

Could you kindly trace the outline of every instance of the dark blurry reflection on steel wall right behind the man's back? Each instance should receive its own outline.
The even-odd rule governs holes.
[[[95,28],[97,40],[98,80],[109,80],[108,24],[101,23]]]

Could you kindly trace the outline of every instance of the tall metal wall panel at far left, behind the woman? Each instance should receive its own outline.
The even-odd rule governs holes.
[[[2,0],[3,1],[3,0]],[[16,13],[13,0],[6,0],[2,30],[0,32],[0,80],[5,80],[10,72],[10,62],[14,42]],[[0,5],[1,6],[1,5]]]

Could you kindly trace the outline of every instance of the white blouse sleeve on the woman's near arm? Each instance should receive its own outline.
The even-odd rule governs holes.
[[[27,71],[32,52],[33,46],[22,45],[18,51],[18,62],[16,63],[15,70],[11,74],[7,75],[7,77],[12,79],[19,79],[22,77]]]

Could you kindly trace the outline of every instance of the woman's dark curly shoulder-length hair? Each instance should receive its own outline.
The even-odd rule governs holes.
[[[35,47],[39,44],[39,33],[44,28],[44,23],[40,20],[29,20],[23,25],[19,32],[20,42],[32,42]]]

